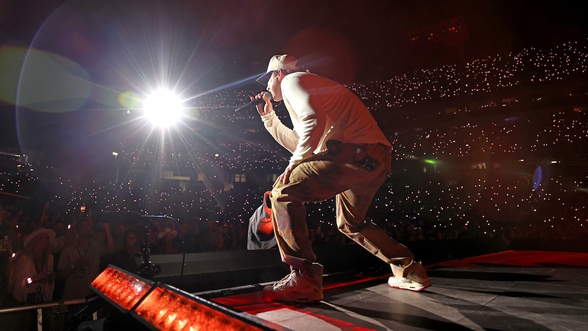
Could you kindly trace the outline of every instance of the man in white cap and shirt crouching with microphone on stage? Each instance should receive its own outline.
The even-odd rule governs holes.
[[[275,55],[257,80],[283,101],[293,128],[273,111],[265,92],[257,110],[266,129],[292,157],[273,184],[273,227],[282,261],[292,272],[263,291],[273,300],[323,299],[323,267],[315,263],[306,227],[307,201],[336,197],[338,229],[392,267],[388,284],[420,291],[430,280],[412,252],[365,220],[373,196],[390,173],[391,145],[368,108],[343,85],[310,74],[290,55]]]

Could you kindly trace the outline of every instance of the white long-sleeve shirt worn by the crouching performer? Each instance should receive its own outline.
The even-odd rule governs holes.
[[[293,128],[284,125],[275,112],[262,116],[273,138],[290,152],[290,164],[299,164],[326,149],[326,142],[390,146],[363,102],[338,82],[308,72],[286,75],[282,98]]]

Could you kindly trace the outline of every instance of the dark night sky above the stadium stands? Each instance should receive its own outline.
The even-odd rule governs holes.
[[[108,105],[109,90],[145,91],[153,79],[175,80],[182,72],[182,88],[231,84],[260,74],[272,55],[285,52],[343,83],[446,64],[455,59],[407,47],[407,32],[458,17],[467,27],[466,60],[573,41],[588,32],[586,9],[571,1],[0,0],[0,44],[5,50],[33,47],[59,55],[69,74],[91,82],[92,102]],[[7,61],[0,54],[0,69],[16,73],[0,81],[11,91],[19,63]],[[171,62],[175,69],[162,71]],[[47,86],[59,87],[51,71],[24,69],[29,85],[45,84],[39,94],[55,92]],[[0,99],[0,146],[17,141],[14,101],[10,95]],[[36,107],[45,107],[41,101]],[[64,127],[51,123],[50,115],[39,118],[39,128]],[[71,138],[64,133],[64,139]]]

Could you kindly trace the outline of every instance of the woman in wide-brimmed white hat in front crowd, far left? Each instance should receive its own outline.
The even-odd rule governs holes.
[[[18,256],[9,277],[9,290],[14,299],[23,303],[50,302],[53,299],[56,273],[53,255],[49,253],[55,232],[39,228],[24,241],[24,251]]]

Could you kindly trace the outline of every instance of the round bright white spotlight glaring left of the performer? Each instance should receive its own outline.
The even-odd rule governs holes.
[[[145,117],[151,123],[166,127],[182,117],[182,101],[170,91],[159,90],[146,98],[143,103]]]

